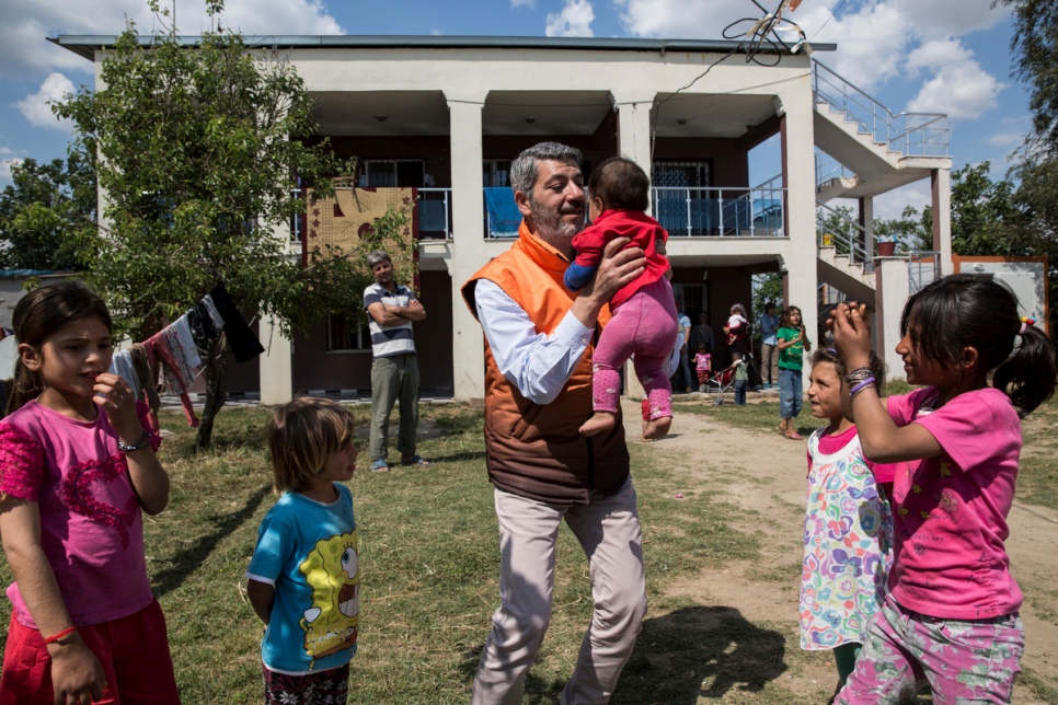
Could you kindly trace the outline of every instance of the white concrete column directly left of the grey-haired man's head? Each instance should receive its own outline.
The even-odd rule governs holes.
[[[452,379],[460,401],[485,396],[485,339],[459,288],[487,261],[482,188],[482,108],[485,91],[446,91],[452,154]],[[511,196],[514,198],[514,196]]]

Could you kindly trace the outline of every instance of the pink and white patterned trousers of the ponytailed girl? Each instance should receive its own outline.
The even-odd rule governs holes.
[[[991,620],[941,620],[905,610],[886,596],[864,642],[836,704],[898,703],[923,673],[934,703],[1009,703],[1025,632],[1016,612]]]

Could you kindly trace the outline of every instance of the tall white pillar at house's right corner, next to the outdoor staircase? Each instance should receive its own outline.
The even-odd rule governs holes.
[[[816,174],[813,128],[812,90],[805,78],[793,88],[796,92],[777,99],[777,112],[781,116],[783,184],[786,187],[786,223],[789,242],[784,249],[786,265],[786,304],[801,309],[805,331],[813,350],[819,344],[817,305],[816,249]],[[804,366],[807,389],[808,365]]]

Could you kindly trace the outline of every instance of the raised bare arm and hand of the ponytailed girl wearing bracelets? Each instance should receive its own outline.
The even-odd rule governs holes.
[[[871,365],[871,328],[863,310],[864,307],[850,308],[839,303],[830,322],[835,347],[850,372]],[[896,463],[921,460],[940,455],[944,450],[933,435],[919,424],[897,426],[874,384],[866,385],[852,397],[852,413],[860,447],[870,461]]]

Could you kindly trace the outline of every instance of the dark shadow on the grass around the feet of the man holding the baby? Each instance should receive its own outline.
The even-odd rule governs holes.
[[[463,681],[473,682],[481,648],[462,656]],[[610,702],[692,705],[733,689],[759,693],[785,672],[784,656],[782,634],[755,626],[734,608],[685,608],[643,623]],[[559,703],[563,687],[564,681],[530,669],[522,703]]]

